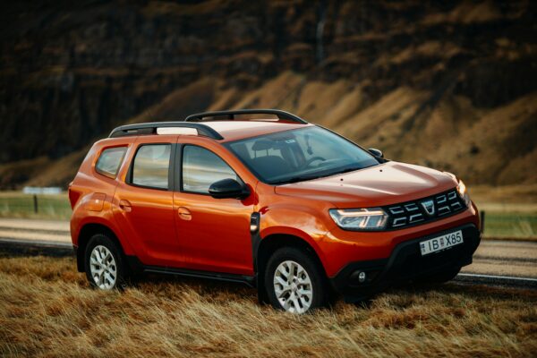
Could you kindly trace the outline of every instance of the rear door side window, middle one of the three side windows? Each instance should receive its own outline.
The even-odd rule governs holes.
[[[149,144],[138,149],[132,166],[132,183],[167,189],[171,148],[171,144]]]

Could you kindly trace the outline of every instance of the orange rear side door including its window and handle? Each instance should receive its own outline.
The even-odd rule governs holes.
[[[115,190],[115,219],[142,263],[182,267],[174,210],[175,135],[141,136],[124,182]]]

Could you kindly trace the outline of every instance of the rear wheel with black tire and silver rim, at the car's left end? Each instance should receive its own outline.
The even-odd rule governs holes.
[[[122,251],[107,234],[94,234],[84,252],[86,277],[90,286],[102,290],[123,289],[128,268]]]

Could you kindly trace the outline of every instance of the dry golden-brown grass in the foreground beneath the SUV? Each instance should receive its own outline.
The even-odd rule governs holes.
[[[99,292],[72,259],[0,258],[4,356],[531,356],[537,293],[447,285],[296,317],[254,290],[149,277]],[[533,352],[533,353],[532,353]]]

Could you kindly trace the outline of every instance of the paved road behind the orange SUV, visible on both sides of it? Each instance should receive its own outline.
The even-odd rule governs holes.
[[[17,253],[72,254],[69,222],[0,218],[0,249]],[[537,289],[537,242],[483,240],[473,264],[456,281],[467,285]]]

